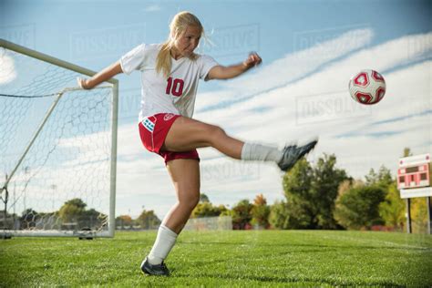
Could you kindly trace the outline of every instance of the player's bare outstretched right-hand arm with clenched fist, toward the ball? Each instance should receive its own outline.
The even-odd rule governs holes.
[[[207,80],[211,79],[231,79],[238,77],[252,67],[256,67],[262,63],[262,58],[255,52],[252,52],[249,57],[241,64],[231,65],[228,67],[216,66],[212,67],[207,75]]]

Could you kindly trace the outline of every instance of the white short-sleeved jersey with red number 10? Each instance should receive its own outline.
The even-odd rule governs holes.
[[[141,44],[120,58],[124,73],[141,71],[141,111],[139,121],[158,113],[174,113],[191,118],[199,79],[205,79],[211,67],[218,63],[209,56],[198,55],[175,60],[171,57],[171,72],[167,79],[156,72],[156,57],[160,44]]]

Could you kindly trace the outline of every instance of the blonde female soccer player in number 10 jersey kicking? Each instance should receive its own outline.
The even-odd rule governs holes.
[[[169,275],[164,260],[200,200],[200,159],[197,148],[212,147],[233,158],[273,161],[289,170],[298,159],[314,149],[316,140],[283,150],[231,138],[223,129],[192,119],[200,79],[238,77],[262,59],[252,53],[240,64],[223,67],[211,57],[194,53],[203,35],[200,20],[180,12],[170,23],[170,36],[163,44],[142,44],[94,77],[78,78],[80,87],[90,89],[118,73],[141,72],[139,135],[142,144],[165,159],[178,202],[159,227],[156,241],[141,270]]]

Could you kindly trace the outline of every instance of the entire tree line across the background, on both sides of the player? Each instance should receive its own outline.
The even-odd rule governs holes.
[[[404,150],[404,156],[411,156]],[[262,194],[251,202],[239,201],[231,209],[213,205],[201,193],[190,218],[231,216],[234,230],[248,229],[328,229],[404,231],[406,204],[400,198],[396,178],[382,166],[369,170],[364,180],[355,180],[336,167],[334,154],[324,154],[314,165],[301,159],[283,175],[283,200],[268,205]],[[411,200],[414,232],[427,231],[427,205],[424,198]],[[43,213],[27,209],[18,217],[8,215],[8,229],[99,228],[108,216],[80,199],[66,201],[59,211]],[[15,221],[12,221],[15,219]],[[154,211],[143,210],[137,219],[116,218],[116,229],[157,229],[160,220]]]

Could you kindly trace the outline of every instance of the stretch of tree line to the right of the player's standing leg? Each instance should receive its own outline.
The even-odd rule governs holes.
[[[411,156],[409,149],[404,156]],[[212,205],[204,194],[191,217],[229,215],[233,229],[405,230],[406,203],[385,166],[369,170],[364,180],[355,180],[336,167],[333,154],[324,154],[315,165],[302,159],[283,175],[283,196],[268,205],[259,194],[230,210]],[[413,231],[426,232],[426,201],[411,202]]]

